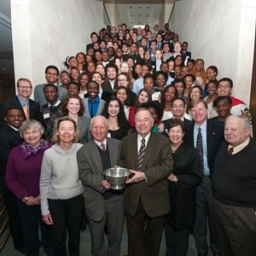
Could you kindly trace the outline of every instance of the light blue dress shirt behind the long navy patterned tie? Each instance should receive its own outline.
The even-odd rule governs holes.
[[[198,134],[198,125],[194,126],[194,147],[196,148],[196,138]],[[204,152],[204,176],[210,175],[210,169],[208,166],[207,160],[207,120],[200,126],[201,127],[201,136],[203,140],[203,152]]]

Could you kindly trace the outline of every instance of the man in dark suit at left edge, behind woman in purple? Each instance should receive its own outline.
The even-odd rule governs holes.
[[[0,186],[3,189],[6,210],[9,213],[9,231],[14,241],[15,250],[20,253],[24,253],[20,215],[15,204],[15,196],[5,183],[5,172],[11,150],[23,142],[18,129],[24,119],[25,116],[20,108],[7,108],[4,114],[5,124],[0,130]]]

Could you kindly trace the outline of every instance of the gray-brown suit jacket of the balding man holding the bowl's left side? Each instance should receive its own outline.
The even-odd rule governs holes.
[[[119,162],[121,142],[107,138],[111,166]],[[94,221],[101,221],[104,214],[102,180],[105,180],[101,155],[96,143],[91,140],[78,151],[79,178],[84,183],[84,208],[86,215]]]

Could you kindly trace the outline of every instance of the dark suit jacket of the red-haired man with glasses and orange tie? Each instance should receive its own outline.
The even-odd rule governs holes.
[[[40,113],[40,105],[38,104],[38,102],[35,102],[35,101],[29,99],[28,104],[29,104],[29,118],[36,119],[40,123],[44,122],[43,116]],[[23,111],[22,106],[20,105],[20,101],[17,96],[15,96],[12,99],[9,99],[6,102],[3,102],[2,106],[3,106],[3,108],[1,108],[1,110],[0,110],[1,111],[0,127],[3,127],[3,125],[5,124],[3,118],[4,118],[4,114],[5,114],[5,111],[7,110],[7,108],[10,108],[10,107],[20,108],[21,112],[25,116],[25,113]]]

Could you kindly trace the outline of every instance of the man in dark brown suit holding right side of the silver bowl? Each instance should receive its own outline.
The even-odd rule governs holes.
[[[159,255],[170,210],[167,177],[172,172],[171,145],[166,137],[151,132],[153,125],[149,110],[139,108],[135,114],[137,133],[122,140],[119,166],[132,173],[125,188],[129,256]]]

